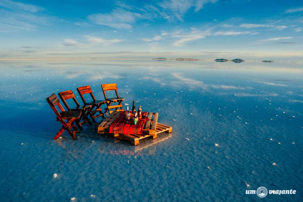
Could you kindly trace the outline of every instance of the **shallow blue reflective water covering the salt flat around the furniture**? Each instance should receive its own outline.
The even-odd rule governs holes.
[[[1,61],[0,73],[2,201],[250,201],[260,186],[302,200],[302,63]],[[91,85],[103,99],[113,82],[171,137],[138,150],[85,124],[52,140],[46,97]]]

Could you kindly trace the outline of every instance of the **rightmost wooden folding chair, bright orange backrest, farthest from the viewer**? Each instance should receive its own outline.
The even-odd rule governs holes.
[[[121,103],[122,103],[123,100],[125,100],[125,98],[119,97],[118,91],[117,91],[118,90],[117,84],[115,84],[115,83],[114,84],[102,84],[101,87],[102,87],[104,98],[105,98],[106,104],[107,104],[107,108],[105,109],[104,113],[106,114],[107,111],[108,111],[109,114],[111,114],[113,111],[124,111],[122,109],[123,105]],[[105,91],[115,91],[117,97],[107,98],[106,94],[105,94]],[[114,103],[114,102],[118,102],[118,104],[111,106],[111,104]],[[120,108],[120,109],[118,110],[118,108]],[[111,109],[115,109],[115,110],[111,111]]]

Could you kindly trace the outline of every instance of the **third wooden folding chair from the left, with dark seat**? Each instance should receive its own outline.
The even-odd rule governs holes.
[[[94,122],[96,122],[95,118],[98,118],[100,116],[102,116],[102,118],[104,118],[104,114],[102,113],[101,106],[102,106],[102,104],[105,104],[106,101],[105,100],[96,100],[95,96],[93,94],[92,88],[90,86],[78,87],[77,91],[78,91],[84,105],[92,105],[92,109],[90,110],[90,113],[89,113],[92,120]],[[91,95],[91,97],[93,99],[93,101],[91,101],[91,102],[86,102],[85,98],[83,97],[84,94],[88,94],[88,93]],[[95,115],[97,112],[98,112],[98,114]]]

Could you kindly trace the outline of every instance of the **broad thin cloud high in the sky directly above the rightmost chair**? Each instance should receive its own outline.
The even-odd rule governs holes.
[[[140,14],[117,8],[110,13],[91,14],[88,19],[98,25],[106,25],[117,29],[130,29]]]

